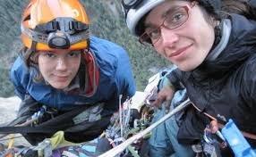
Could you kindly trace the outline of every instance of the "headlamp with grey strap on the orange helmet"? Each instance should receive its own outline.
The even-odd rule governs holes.
[[[43,43],[54,49],[68,49],[71,45],[89,39],[89,26],[72,18],[56,18],[35,29],[21,24],[21,31],[32,41]]]

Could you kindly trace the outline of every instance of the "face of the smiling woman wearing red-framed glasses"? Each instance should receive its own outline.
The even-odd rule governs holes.
[[[183,13],[175,12],[177,7],[190,4],[184,1],[168,1],[155,7],[145,20],[145,32],[158,28],[163,21],[179,21]],[[191,8],[190,8],[191,7]],[[190,4],[188,19],[175,29],[160,27],[160,37],[152,42],[158,54],[173,62],[180,70],[190,71],[197,68],[209,54],[214,43],[214,28],[205,20],[200,7]],[[168,13],[167,13],[168,12]],[[173,18],[166,18],[171,15]]]

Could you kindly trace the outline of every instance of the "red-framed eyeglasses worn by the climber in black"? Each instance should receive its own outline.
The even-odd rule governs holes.
[[[192,4],[186,4],[166,12],[166,18],[158,28],[148,29],[141,35],[139,38],[141,44],[145,42],[150,44],[157,43],[161,37],[162,27],[166,29],[176,29],[181,27],[189,19],[189,11],[195,4],[195,2],[192,2]]]

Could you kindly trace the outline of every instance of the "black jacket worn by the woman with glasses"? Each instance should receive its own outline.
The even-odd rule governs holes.
[[[171,83],[187,89],[187,94],[201,112],[192,106],[185,111],[179,132],[180,143],[201,139],[209,124],[207,112],[226,124],[233,119],[238,128],[256,134],[256,21],[232,14],[231,34],[226,48],[214,61],[205,61],[190,72],[174,70]],[[177,82],[180,81],[180,82]],[[256,141],[250,141],[256,146]]]

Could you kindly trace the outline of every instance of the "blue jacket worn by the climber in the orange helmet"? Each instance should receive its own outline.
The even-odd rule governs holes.
[[[21,57],[16,59],[11,70],[16,94],[21,100],[25,95],[30,95],[38,103],[47,104],[59,110],[98,102],[107,102],[107,105],[111,105],[110,108],[116,110],[119,95],[123,95],[126,99],[135,94],[129,57],[121,46],[98,37],[90,37],[90,52],[95,57],[99,71],[98,88],[91,97],[65,93],[63,90],[47,85],[44,81],[34,82],[35,71],[27,70]]]

